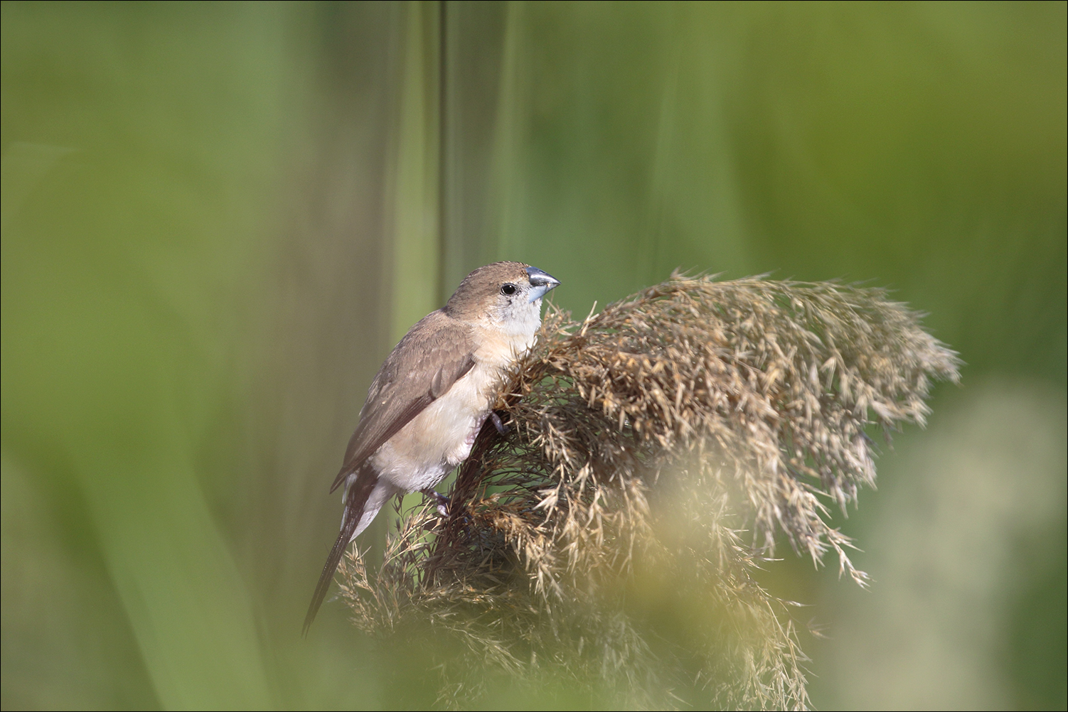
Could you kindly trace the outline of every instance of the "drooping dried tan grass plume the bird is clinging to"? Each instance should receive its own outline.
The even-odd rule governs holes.
[[[807,706],[776,540],[866,574],[829,507],[875,484],[871,434],[923,425],[957,355],[881,289],[669,281],[538,345],[450,493],[384,563],[343,563],[356,624],[418,640],[442,707],[501,685],[595,706]],[[578,695],[579,697],[576,697]]]

